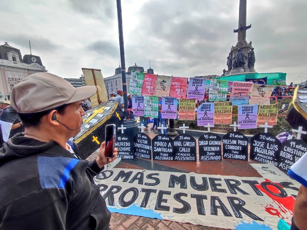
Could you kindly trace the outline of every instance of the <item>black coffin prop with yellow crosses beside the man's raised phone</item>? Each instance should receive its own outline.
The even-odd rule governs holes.
[[[78,144],[81,159],[86,159],[100,147],[105,139],[106,125],[115,124],[118,128],[125,117],[117,102],[103,102],[85,113],[81,131],[72,140]]]

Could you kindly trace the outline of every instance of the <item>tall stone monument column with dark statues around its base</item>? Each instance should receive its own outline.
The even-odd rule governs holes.
[[[246,41],[246,30],[251,25],[246,26],[246,0],[240,0],[239,5],[239,25],[238,29],[233,30],[238,33],[238,42],[230,48],[227,57],[227,71],[223,76],[230,74],[256,73],[255,71],[255,52],[250,43]]]

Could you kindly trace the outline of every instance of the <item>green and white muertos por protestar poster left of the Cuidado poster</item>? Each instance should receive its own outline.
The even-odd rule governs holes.
[[[226,101],[228,80],[210,79],[209,101]]]

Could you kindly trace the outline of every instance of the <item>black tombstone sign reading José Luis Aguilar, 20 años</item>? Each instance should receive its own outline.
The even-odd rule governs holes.
[[[278,164],[280,141],[269,133],[258,133],[251,138],[250,159]]]

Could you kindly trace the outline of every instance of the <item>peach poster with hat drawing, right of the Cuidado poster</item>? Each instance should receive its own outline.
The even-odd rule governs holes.
[[[253,86],[251,87],[251,98],[249,99],[248,104],[269,105],[270,96],[273,92],[273,89],[273,85],[253,84]]]

